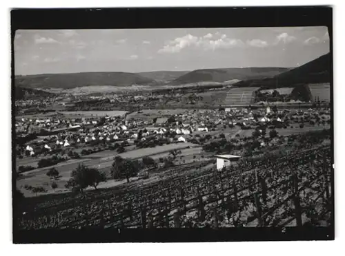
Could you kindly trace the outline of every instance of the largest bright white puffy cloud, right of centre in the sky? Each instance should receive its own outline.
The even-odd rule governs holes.
[[[217,34],[217,33],[216,33]],[[217,37],[217,38],[214,38]],[[213,39],[211,39],[213,38]],[[210,36],[206,34],[205,36],[197,37],[192,34],[187,34],[186,36],[177,37],[176,39],[166,43],[164,47],[158,50],[158,53],[176,53],[181,52],[182,49],[188,47],[195,47],[202,50],[216,50],[216,49],[228,49],[232,47],[238,47],[244,45],[244,43],[239,39],[229,39],[225,34],[217,36]]]

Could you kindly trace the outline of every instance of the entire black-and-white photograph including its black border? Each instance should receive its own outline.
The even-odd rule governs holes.
[[[12,10],[14,241],[334,239],[332,9],[288,9]]]

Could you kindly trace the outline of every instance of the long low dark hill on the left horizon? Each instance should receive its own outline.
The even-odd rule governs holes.
[[[39,74],[16,76],[16,86],[28,88],[62,88],[71,89],[90,85],[128,86],[151,85],[156,81],[126,72],[87,72],[73,74]]]

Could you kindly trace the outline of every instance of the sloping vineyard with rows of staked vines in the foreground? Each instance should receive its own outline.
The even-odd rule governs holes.
[[[19,229],[328,226],[331,166],[331,148],[319,147],[222,171],[186,173],[191,167],[175,167],[175,175],[153,184],[36,205],[17,216],[16,224]]]

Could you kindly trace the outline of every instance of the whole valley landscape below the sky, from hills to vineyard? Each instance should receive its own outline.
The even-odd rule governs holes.
[[[330,225],[328,63],[17,76],[15,227]]]

